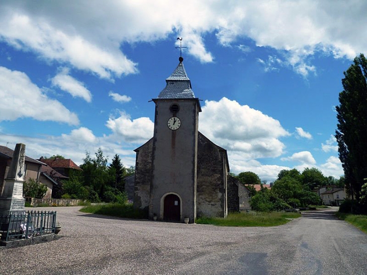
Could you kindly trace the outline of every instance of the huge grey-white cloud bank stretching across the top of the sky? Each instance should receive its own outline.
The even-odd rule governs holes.
[[[215,34],[223,46],[249,38],[258,47],[278,50],[283,64],[307,76],[316,72],[310,58],[315,52],[352,59],[367,49],[367,41],[360,39],[367,36],[365,10],[363,0],[256,0],[230,5],[224,0],[188,0],[173,6],[164,1],[100,5],[65,0],[40,2],[37,8],[28,1],[11,1],[0,8],[0,39],[111,79],[137,72],[137,64],[120,50],[126,42],[154,42],[177,34],[184,37],[189,54],[212,62],[215,56],[205,41],[208,34]]]

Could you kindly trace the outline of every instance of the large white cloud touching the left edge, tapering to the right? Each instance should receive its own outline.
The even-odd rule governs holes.
[[[78,125],[79,119],[60,102],[47,97],[20,71],[0,67],[0,121],[33,118]]]

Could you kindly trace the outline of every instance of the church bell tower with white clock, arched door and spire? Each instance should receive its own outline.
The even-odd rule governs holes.
[[[166,79],[155,103],[149,217],[196,219],[198,124],[201,106],[195,98],[184,59]]]

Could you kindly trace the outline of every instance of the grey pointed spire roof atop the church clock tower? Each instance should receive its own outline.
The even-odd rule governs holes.
[[[158,99],[195,99],[194,91],[191,89],[191,81],[186,73],[184,58],[180,57],[179,64],[173,73],[166,78],[166,86],[160,92]]]

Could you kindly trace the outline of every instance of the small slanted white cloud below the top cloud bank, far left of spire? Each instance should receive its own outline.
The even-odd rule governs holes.
[[[84,83],[76,80],[68,74],[69,70],[67,68],[62,68],[62,70],[51,79],[52,85],[59,87],[73,97],[80,97],[90,103],[91,94],[84,86]]]

